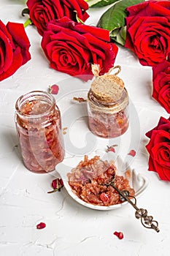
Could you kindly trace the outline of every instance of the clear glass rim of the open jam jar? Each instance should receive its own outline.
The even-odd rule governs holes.
[[[49,108],[45,110],[43,113],[39,114],[34,114],[34,115],[29,115],[26,113],[23,113],[22,110],[20,110],[21,106],[24,104],[26,101],[32,101],[34,97],[45,97],[46,102],[50,103]],[[32,98],[32,100],[30,100]],[[47,101],[48,99],[48,101]],[[53,108],[55,107],[55,97],[53,97],[52,94],[47,93],[46,91],[30,91],[26,94],[21,95],[16,103],[15,103],[15,110],[18,113],[18,115],[23,116],[25,118],[42,118],[43,116],[47,116],[48,113],[50,113]]]

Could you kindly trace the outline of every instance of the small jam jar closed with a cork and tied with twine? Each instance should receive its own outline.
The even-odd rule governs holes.
[[[88,92],[90,131],[101,138],[123,135],[129,124],[128,102],[128,92],[117,74],[97,76]]]

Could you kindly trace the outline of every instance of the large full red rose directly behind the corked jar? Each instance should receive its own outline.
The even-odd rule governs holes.
[[[109,31],[75,23],[67,17],[52,20],[42,37],[50,67],[82,80],[93,78],[91,64],[99,64],[103,75],[115,63],[117,46],[109,42]]]

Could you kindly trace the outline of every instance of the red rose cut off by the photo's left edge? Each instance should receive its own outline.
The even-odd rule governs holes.
[[[0,81],[31,59],[29,47],[23,24],[9,22],[5,26],[0,20]]]

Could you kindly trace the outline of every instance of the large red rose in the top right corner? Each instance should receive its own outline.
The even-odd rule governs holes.
[[[144,1],[128,7],[125,47],[144,66],[166,60],[170,51],[170,1]]]

